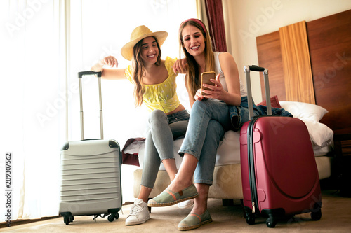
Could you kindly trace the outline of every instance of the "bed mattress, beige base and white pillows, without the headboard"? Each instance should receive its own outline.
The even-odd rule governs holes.
[[[264,104],[264,103],[263,103]],[[329,178],[331,176],[331,161],[333,159],[333,131],[319,122],[320,119],[328,112],[325,108],[314,104],[306,104],[294,101],[277,101],[277,97],[272,97],[272,105],[281,105],[297,118],[305,122],[310,133],[310,139],[314,148],[314,156],[319,171],[319,179]],[[320,118],[320,119],[319,119]],[[213,174],[213,185],[209,190],[208,197],[217,199],[242,199],[241,190],[241,168],[240,168],[240,144],[239,132],[228,131],[225,133],[223,141],[220,141],[216,155],[216,167]],[[182,158],[178,155],[183,139],[174,141],[174,157],[179,168]],[[134,197],[138,197],[140,190],[141,174],[143,167],[145,140],[142,138],[129,140],[128,146],[124,146],[123,155],[125,164],[140,166],[140,169],[134,171]],[[133,162],[127,158],[134,157]],[[136,159],[136,160],[135,160]],[[161,164],[154,190],[150,198],[156,197],[161,193],[170,181],[168,175]]]

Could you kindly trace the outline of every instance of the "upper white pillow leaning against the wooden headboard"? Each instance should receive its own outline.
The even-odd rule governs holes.
[[[279,101],[280,106],[291,113],[294,118],[301,120],[314,120],[319,122],[328,113],[325,108],[315,104],[294,101]]]

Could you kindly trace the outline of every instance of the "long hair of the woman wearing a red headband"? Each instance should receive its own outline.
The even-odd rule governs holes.
[[[186,48],[183,46],[183,29],[187,25],[191,25],[197,27],[202,35],[205,38],[205,71],[215,71],[215,57],[213,55],[212,46],[211,46],[211,37],[208,34],[208,30],[204,24],[200,24],[200,20],[186,20],[183,24],[180,25],[179,28],[179,39],[180,39],[180,47],[183,49],[185,57],[187,59],[188,69],[185,75],[185,84],[187,85],[187,90],[194,96],[199,88],[201,88],[201,80],[199,73],[199,65],[195,61],[194,57],[187,52]]]

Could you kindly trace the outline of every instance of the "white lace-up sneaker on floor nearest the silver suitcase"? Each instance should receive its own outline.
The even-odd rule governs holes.
[[[149,219],[150,213],[146,202],[143,202],[143,199],[136,199],[133,206],[131,206],[131,212],[126,218],[126,225],[145,223]]]

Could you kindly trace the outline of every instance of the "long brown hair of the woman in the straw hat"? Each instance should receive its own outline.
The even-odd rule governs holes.
[[[154,36],[152,36],[154,37]],[[161,48],[159,47],[159,41],[154,37],[157,48],[159,49],[159,55],[157,56],[156,65],[161,64]],[[145,86],[143,83],[143,77],[145,76],[145,66],[143,58],[141,57],[141,47],[143,40],[139,41],[133,48],[133,58],[132,58],[132,78],[134,82],[134,101],[135,106],[141,106],[143,104],[143,97],[145,93]]]

